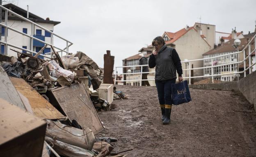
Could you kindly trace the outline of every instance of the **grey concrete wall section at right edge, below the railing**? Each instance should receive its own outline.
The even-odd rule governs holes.
[[[256,71],[239,80],[238,88],[246,99],[254,104],[254,110],[256,111]]]

